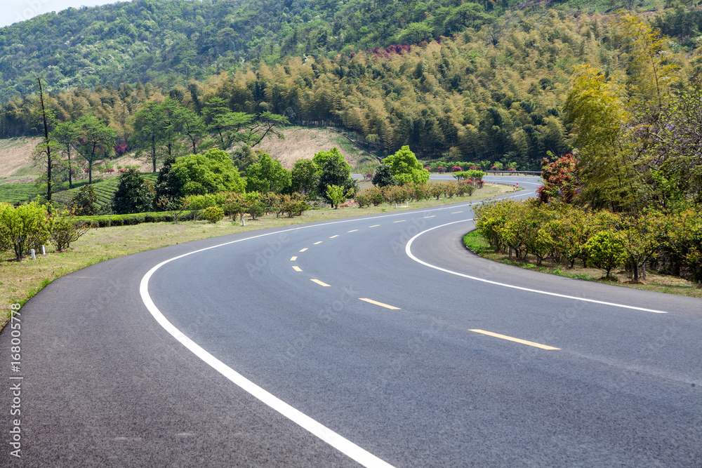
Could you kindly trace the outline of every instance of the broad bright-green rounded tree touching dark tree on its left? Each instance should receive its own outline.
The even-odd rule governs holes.
[[[244,180],[229,155],[221,149],[209,149],[205,154],[182,156],[171,165],[169,171],[182,194],[204,195],[217,192],[244,192]]]

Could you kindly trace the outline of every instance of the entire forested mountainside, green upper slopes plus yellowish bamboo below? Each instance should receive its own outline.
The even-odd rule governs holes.
[[[574,141],[562,109],[574,69],[625,73],[634,53],[613,29],[616,15],[572,6],[584,4],[597,6],[140,0],[69,9],[0,29],[9,97],[0,136],[32,133],[41,72],[58,121],[93,112],[124,144],[145,102],[170,96],[200,114],[224,102],[341,126],[380,155],[410,145],[423,159],[536,169]],[[694,67],[696,6],[645,16],[672,35],[668,60]]]

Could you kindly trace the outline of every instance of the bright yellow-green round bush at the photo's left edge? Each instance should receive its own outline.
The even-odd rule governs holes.
[[[9,246],[20,262],[29,253],[48,239],[46,206],[36,201],[14,207],[0,203],[0,244]]]

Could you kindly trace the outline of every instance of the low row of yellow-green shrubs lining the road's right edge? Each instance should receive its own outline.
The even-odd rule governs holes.
[[[702,281],[702,213],[692,208],[637,215],[586,211],[565,203],[489,201],[475,208],[475,226],[498,250],[518,260],[581,260],[609,272],[626,266],[634,281],[646,269]]]

